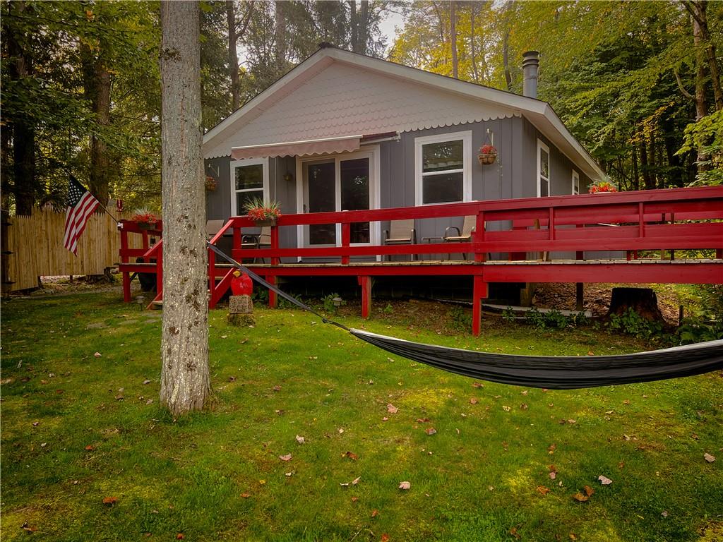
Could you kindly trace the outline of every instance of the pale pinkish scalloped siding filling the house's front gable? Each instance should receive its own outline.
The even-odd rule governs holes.
[[[244,145],[408,132],[519,116],[511,108],[341,62],[269,102],[255,119],[205,152],[206,158],[226,156],[231,147]]]

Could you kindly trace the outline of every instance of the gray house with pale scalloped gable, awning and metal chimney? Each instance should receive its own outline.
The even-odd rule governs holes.
[[[289,214],[576,194],[603,173],[536,100],[536,53],[523,67],[521,96],[322,44],[205,134],[207,218],[245,214],[252,197]],[[477,159],[485,143],[490,165]],[[459,222],[425,220],[417,236]],[[351,242],[381,244],[384,228],[354,225]],[[280,235],[289,248],[341,243],[338,225]]]

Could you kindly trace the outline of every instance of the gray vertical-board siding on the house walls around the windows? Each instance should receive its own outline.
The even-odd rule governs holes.
[[[490,135],[487,134],[489,129]],[[403,132],[398,140],[380,142],[380,205],[388,207],[411,207],[416,201],[416,179],[414,163],[415,139],[430,135],[472,132],[471,148],[471,198],[473,200],[511,199],[536,197],[537,194],[537,139],[541,139],[550,150],[550,192],[552,195],[571,193],[573,163],[552,142],[544,137],[533,124],[523,117],[493,119],[489,121],[442,126],[432,129]],[[497,147],[494,164],[481,165],[476,159],[479,147],[488,141]],[[206,173],[218,179],[215,192],[207,192],[208,219],[226,219],[231,215],[231,171],[230,157],[206,160]],[[269,193],[271,199],[281,204],[282,212],[299,212],[296,208],[296,158],[270,158],[268,163]],[[589,184],[589,178],[580,174],[581,191]],[[291,180],[284,180],[291,173]],[[448,226],[462,228],[463,218],[438,218],[416,221],[417,242],[424,238],[440,237]],[[389,223],[381,224],[382,231],[389,229]],[[489,231],[508,229],[509,223],[488,223]],[[296,228],[281,228],[281,246],[297,246]],[[383,234],[382,234],[383,238]],[[555,254],[559,257],[574,257],[574,254]],[[438,257],[438,255],[436,256]],[[493,255],[493,257],[495,257]],[[430,255],[429,258],[435,258]]]

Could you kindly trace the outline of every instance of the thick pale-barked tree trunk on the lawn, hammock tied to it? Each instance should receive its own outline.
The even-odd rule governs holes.
[[[161,33],[161,404],[177,416],[210,393],[198,3],[162,1]]]

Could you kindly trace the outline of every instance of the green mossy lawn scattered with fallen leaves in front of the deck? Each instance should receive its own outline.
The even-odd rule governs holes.
[[[341,319],[509,353],[651,348],[492,320],[475,339],[439,318],[420,329],[424,306],[411,309],[420,316]],[[212,404],[174,420],[158,407],[160,312],[115,292],[4,302],[2,540],[723,539],[721,374],[480,386],[301,311],[256,315],[235,328],[212,311]],[[585,486],[594,494],[578,502]]]

